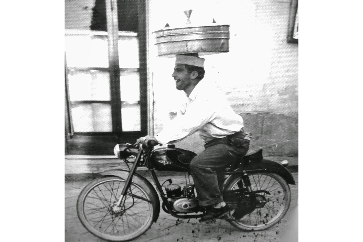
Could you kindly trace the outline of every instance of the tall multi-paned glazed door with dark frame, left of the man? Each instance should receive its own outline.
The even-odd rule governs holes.
[[[115,144],[146,135],[144,9],[144,1],[65,1],[68,154],[112,155]]]

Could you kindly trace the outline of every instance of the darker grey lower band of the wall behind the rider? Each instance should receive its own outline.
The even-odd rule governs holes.
[[[244,131],[252,133],[249,152],[263,148],[264,156],[298,156],[298,117],[285,114],[240,114]],[[176,147],[195,153],[203,151],[203,140],[193,134]]]

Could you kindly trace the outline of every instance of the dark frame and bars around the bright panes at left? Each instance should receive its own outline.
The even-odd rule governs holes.
[[[115,3],[116,0],[106,0],[107,4]],[[108,3],[107,3],[108,2]],[[107,18],[111,16],[113,21],[107,21],[107,32],[104,31],[91,31],[91,30],[65,30],[66,34],[87,34],[87,35],[107,35],[108,36],[108,58],[109,67],[68,67],[66,65],[65,57],[65,145],[66,154],[85,154],[81,150],[81,147],[85,145],[94,145],[105,141],[106,143],[126,143],[144,136],[148,133],[148,86],[147,86],[147,32],[146,32],[146,1],[138,0],[138,32],[119,32],[117,26],[117,14],[110,14],[110,8],[106,9]],[[116,20],[116,21],[115,21]],[[117,31],[115,31],[117,30]],[[139,44],[139,68],[114,68],[119,67],[118,56],[118,38],[120,36],[132,36],[138,38]],[[110,44],[111,41],[111,44]],[[112,43],[113,42],[113,43]],[[116,42],[116,43],[115,43]],[[117,52],[116,52],[117,51]],[[112,62],[112,58],[117,56],[117,61]],[[112,64],[111,64],[112,63]],[[110,101],[70,101],[69,86],[68,86],[68,74],[69,71],[107,71],[110,75]],[[134,72],[139,74],[139,91],[140,99],[137,102],[140,105],[140,131],[122,131],[122,104],[128,103],[121,101],[120,92],[120,74],[121,73]],[[112,119],[112,131],[110,132],[74,132],[72,124],[72,105],[77,103],[109,103],[111,105],[111,119]],[[133,103],[135,104],[135,103]],[[87,138],[88,137],[88,138]],[[73,148],[72,148],[73,147]],[[75,148],[76,147],[76,148]],[[77,148],[78,147],[78,148]],[[110,153],[113,147],[107,146],[107,154]],[[78,149],[78,152],[77,152]],[[92,152],[91,152],[92,153]],[[97,153],[91,155],[98,155]]]

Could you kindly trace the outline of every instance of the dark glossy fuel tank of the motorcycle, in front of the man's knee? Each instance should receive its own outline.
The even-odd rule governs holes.
[[[149,167],[157,171],[188,172],[189,164],[196,155],[192,151],[170,145],[168,148],[159,148],[152,152]]]

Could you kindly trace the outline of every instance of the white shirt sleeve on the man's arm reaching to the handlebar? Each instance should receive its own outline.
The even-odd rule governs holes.
[[[178,113],[175,119],[166,124],[156,136],[160,144],[175,143],[195,133],[206,123],[213,120],[215,110],[211,100],[195,100],[190,103],[184,115]]]

